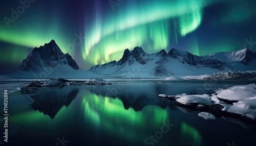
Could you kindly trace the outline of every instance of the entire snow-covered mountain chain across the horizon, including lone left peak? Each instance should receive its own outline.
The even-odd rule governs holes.
[[[234,69],[256,70],[256,53],[248,48],[197,56],[172,48],[147,54],[136,46],[126,48],[120,60],[92,66],[85,71],[68,53],[64,54],[54,40],[35,47],[12,77],[41,78],[162,78],[170,76],[208,75]],[[28,74],[28,75],[27,75]]]

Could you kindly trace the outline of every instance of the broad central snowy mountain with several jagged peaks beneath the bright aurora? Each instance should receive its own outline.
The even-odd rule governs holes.
[[[146,54],[141,47],[126,49],[119,61],[96,65],[89,71],[112,77],[159,78],[170,76],[205,75],[232,69],[228,63],[206,59],[172,48],[156,54]]]

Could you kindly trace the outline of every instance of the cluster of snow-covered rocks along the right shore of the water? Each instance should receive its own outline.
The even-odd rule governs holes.
[[[203,111],[233,114],[241,118],[256,120],[256,84],[233,86],[217,90],[212,96],[178,94],[176,96],[159,94],[160,99],[173,98],[179,106]],[[232,104],[229,104],[232,103]],[[214,119],[214,115],[201,112],[199,116]]]

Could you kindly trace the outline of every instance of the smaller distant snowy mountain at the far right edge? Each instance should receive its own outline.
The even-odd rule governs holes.
[[[206,59],[217,59],[229,64],[234,70],[255,70],[256,53],[253,53],[249,48],[244,48],[240,51],[220,52],[203,56]]]

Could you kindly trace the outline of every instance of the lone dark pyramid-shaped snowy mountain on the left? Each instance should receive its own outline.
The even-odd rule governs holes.
[[[10,77],[14,78],[92,78],[92,72],[77,65],[68,54],[61,52],[54,40],[35,47],[32,53]]]

